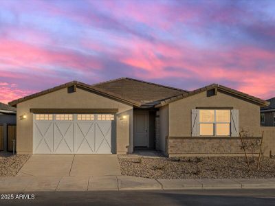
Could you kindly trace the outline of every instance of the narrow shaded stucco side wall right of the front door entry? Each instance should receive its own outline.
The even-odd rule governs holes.
[[[166,152],[166,137],[169,134],[169,105],[159,108],[159,149]]]

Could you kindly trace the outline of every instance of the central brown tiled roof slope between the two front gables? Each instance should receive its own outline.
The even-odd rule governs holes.
[[[121,95],[123,98],[135,100],[144,107],[155,106],[166,98],[171,98],[175,95],[188,92],[182,89],[135,80],[132,78],[119,78],[94,84],[92,86],[104,89],[106,91],[111,91],[112,93]]]

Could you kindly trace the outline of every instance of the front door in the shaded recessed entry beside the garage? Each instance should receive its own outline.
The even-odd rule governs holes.
[[[148,112],[134,113],[134,146],[148,147]]]

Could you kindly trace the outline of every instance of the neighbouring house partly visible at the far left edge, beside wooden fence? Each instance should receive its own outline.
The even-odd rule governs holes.
[[[8,150],[8,125],[17,124],[17,108],[0,102],[0,150]]]

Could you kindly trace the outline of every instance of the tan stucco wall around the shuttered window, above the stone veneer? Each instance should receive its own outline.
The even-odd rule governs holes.
[[[206,92],[192,95],[169,104],[169,136],[191,137],[191,110],[196,107],[233,107],[239,110],[239,131],[248,130],[261,136],[260,106],[218,91],[207,97]]]

